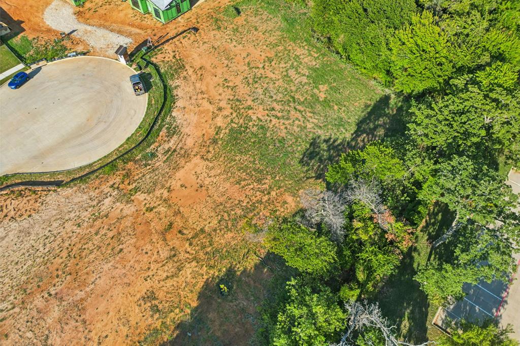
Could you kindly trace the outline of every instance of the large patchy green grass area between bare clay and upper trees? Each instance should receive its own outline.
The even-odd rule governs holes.
[[[235,9],[241,24],[233,21]],[[307,178],[322,178],[341,152],[362,145],[363,135],[375,134],[358,126],[362,118],[392,115],[391,98],[316,42],[306,9],[277,0],[244,0],[225,7],[215,28],[230,45],[247,46],[257,32],[269,37],[258,44],[272,55],[260,63],[248,61],[240,85],[221,82],[233,114],[215,139],[219,157],[264,192],[295,192]],[[215,54],[233,63],[225,51]],[[240,95],[241,87],[254,91]]]

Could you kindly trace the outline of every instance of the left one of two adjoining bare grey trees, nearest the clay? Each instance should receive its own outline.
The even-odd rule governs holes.
[[[300,199],[305,208],[305,219],[311,227],[323,222],[327,225],[333,241],[343,241],[346,203],[340,194],[328,190],[308,189],[300,194]]]

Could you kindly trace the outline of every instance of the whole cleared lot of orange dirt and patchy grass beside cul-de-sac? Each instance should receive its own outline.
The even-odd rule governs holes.
[[[42,19],[50,3],[2,7],[28,35],[54,37]],[[174,109],[146,153],[83,184],[0,195],[2,343],[253,337],[271,273],[244,221],[294,211],[335,159],[319,148],[338,154],[384,135],[395,107],[316,43],[298,10],[252,0],[238,16],[228,4],[206,0],[167,25],[119,1],[77,9],[134,43],[200,31],[154,52]]]

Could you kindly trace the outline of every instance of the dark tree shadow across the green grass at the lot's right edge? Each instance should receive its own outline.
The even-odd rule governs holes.
[[[350,138],[315,136],[300,158],[300,164],[307,168],[309,178],[323,180],[327,167],[337,162],[342,153],[362,149],[374,140],[404,134],[404,102],[394,103],[390,95],[384,95],[373,103],[357,122]]]

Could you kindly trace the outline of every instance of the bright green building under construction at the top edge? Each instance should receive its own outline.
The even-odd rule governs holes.
[[[167,23],[190,9],[190,0],[129,0],[130,5],[141,12]]]

